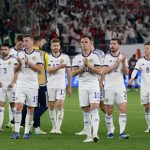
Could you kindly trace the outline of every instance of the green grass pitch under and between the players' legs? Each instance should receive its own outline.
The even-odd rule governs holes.
[[[144,133],[146,122],[143,106],[140,104],[139,92],[128,92],[127,126],[126,132],[130,135],[128,140],[119,139],[118,113],[116,108],[113,113],[115,124],[114,139],[107,139],[104,115],[100,112],[100,140],[97,143],[83,143],[85,136],[77,136],[83,127],[82,111],[79,108],[78,92],[73,89],[73,94],[65,101],[65,115],[62,124],[62,135],[50,134],[51,123],[48,111],[41,120],[41,128],[47,135],[32,135],[30,140],[12,140],[11,129],[0,133],[0,150],[150,150],[150,134]],[[5,111],[4,124],[8,121],[8,112]]]

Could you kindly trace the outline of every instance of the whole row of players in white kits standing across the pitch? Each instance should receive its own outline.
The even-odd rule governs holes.
[[[83,36],[80,40],[82,53],[76,55],[72,63],[69,56],[61,52],[61,42],[57,38],[51,40],[50,54],[41,50],[41,39],[39,45],[38,39],[30,35],[23,36],[22,43],[19,41],[18,39],[18,50],[10,49],[7,44],[1,46],[1,132],[8,99],[9,121],[14,123],[12,139],[20,138],[22,125],[25,127],[24,139],[31,138],[32,127],[35,134],[47,134],[40,129],[40,117],[47,108],[52,123],[50,133],[62,134],[65,96],[71,96],[72,76],[79,76],[79,105],[83,112],[84,127],[76,135],[86,135],[86,139],[83,140],[85,143],[98,142],[100,108],[105,114],[107,138],[114,138],[113,106],[116,104],[119,113],[119,138],[130,137],[125,132],[127,92],[124,84],[124,75],[128,75],[129,66],[126,56],[119,52],[121,41],[118,38],[111,39],[110,52],[104,54],[94,47],[91,37]],[[137,61],[129,80],[130,85],[138,71],[141,71],[141,104],[144,106],[147,123],[145,132],[150,132],[150,42],[144,45],[144,57]]]

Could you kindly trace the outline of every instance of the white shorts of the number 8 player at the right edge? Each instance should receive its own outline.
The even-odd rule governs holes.
[[[150,90],[148,89],[141,89],[141,104],[148,104],[150,103]]]

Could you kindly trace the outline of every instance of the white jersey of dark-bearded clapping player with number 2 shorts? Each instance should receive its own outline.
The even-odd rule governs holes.
[[[118,56],[113,56],[111,53],[106,54],[105,60],[104,60],[104,66],[111,67],[118,58],[122,59],[123,55],[121,53],[119,53]],[[128,67],[127,59],[126,59],[126,65]],[[105,75],[105,84],[104,84],[105,90],[125,90],[126,89],[125,84],[124,84],[122,69],[123,69],[122,63],[120,63],[119,67],[116,70]]]

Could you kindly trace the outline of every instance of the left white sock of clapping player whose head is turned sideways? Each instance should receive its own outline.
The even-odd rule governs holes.
[[[22,119],[22,112],[21,111],[15,111],[15,132],[20,132],[20,124]]]

